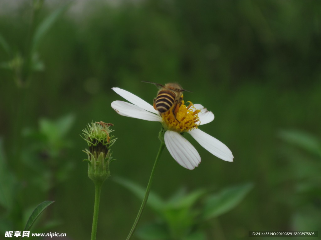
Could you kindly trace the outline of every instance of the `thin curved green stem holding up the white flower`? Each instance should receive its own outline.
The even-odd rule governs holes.
[[[160,131],[160,135],[162,133],[163,133],[163,129]],[[138,211],[137,217],[136,217],[136,219],[134,221],[133,227],[132,227],[132,229],[130,229],[130,232],[129,232],[126,240],[129,240],[133,236],[133,234],[134,234],[134,232],[135,232],[135,230],[137,228],[138,222],[142,217],[142,213],[144,211],[144,208],[145,208],[145,205],[147,203],[148,196],[149,196],[149,192],[150,192],[151,187],[152,187],[152,181],[153,181],[153,177],[154,177],[154,174],[155,174],[155,169],[156,169],[156,166],[158,164],[158,160],[160,159],[160,155],[164,150],[164,147],[165,147],[164,139],[160,137],[160,148],[158,150],[158,153],[157,153],[157,156],[156,156],[156,159],[155,159],[155,162],[154,162],[154,166],[153,166],[153,169],[152,169],[152,172],[151,172],[151,176],[149,177],[149,181],[148,181],[148,184],[147,184],[145,196],[144,196],[142,205],[141,205],[141,207],[140,207],[140,209]]]

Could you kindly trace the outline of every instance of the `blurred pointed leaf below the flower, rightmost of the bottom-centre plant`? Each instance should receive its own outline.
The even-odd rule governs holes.
[[[209,196],[205,202],[203,219],[217,217],[237,206],[253,188],[252,183],[223,189],[220,193]]]

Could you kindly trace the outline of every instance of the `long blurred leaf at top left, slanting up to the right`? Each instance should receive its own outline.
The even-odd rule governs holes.
[[[41,38],[46,35],[48,30],[59,19],[59,17],[68,9],[70,4],[71,4],[71,2],[56,9],[40,23],[40,25],[38,26],[38,28],[35,31],[35,35],[32,40],[32,47],[31,47],[32,54],[36,51],[36,49],[41,41]]]

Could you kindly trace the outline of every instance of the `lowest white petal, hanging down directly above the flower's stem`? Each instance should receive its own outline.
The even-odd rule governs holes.
[[[164,140],[170,155],[181,166],[192,170],[201,162],[197,150],[178,132],[166,131]]]

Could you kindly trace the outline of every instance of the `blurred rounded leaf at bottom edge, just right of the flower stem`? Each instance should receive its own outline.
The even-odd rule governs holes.
[[[143,240],[168,240],[170,239],[166,227],[162,224],[151,223],[137,230],[137,236]]]

